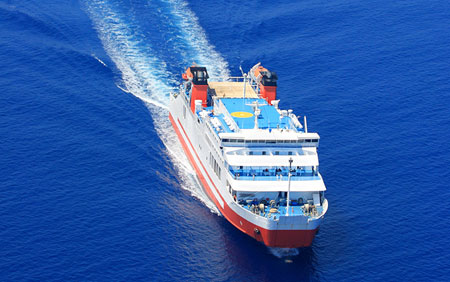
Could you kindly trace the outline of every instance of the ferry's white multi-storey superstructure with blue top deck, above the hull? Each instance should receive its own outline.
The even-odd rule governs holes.
[[[216,163],[225,165],[235,191],[287,190],[288,177],[295,182],[292,191],[325,190],[318,172],[319,135],[308,133],[306,119],[302,124],[292,110],[278,107],[276,85],[247,76],[194,82],[195,76],[186,80],[180,94],[199,124],[196,134],[205,135],[207,159],[215,170]],[[187,107],[182,110],[186,118]]]

